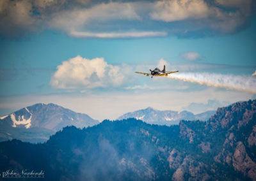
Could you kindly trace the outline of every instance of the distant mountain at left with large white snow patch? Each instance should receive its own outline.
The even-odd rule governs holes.
[[[84,113],[76,113],[54,103],[36,103],[0,119],[0,141],[6,138],[30,141],[38,139],[38,135],[40,139],[47,140],[50,133],[55,133],[65,126],[82,128],[99,123]]]

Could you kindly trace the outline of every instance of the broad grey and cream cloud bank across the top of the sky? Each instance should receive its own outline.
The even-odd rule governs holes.
[[[57,30],[74,36],[138,38],[234,33],[246,27],[255,1],[2,0],[0,34]]]

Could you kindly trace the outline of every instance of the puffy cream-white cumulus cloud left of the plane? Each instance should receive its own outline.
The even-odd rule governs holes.
[[[92,89],[121,85],[124,72],[103,58],[85,59],[81,56],[62,62],[52,75],[50,84],[56,89]]]

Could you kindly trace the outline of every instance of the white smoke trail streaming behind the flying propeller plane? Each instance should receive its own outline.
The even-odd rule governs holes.
[[[253,76],[215,73],[173,73],[168,75],[168,78],[256,94],[256,78]]]

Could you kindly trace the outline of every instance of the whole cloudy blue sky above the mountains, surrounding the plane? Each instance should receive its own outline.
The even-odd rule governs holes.
[[[55,103],[101,121],[256,99],[255,4],[0,1],[0,115]],[[163,65],[179,73],[134,73]]]

